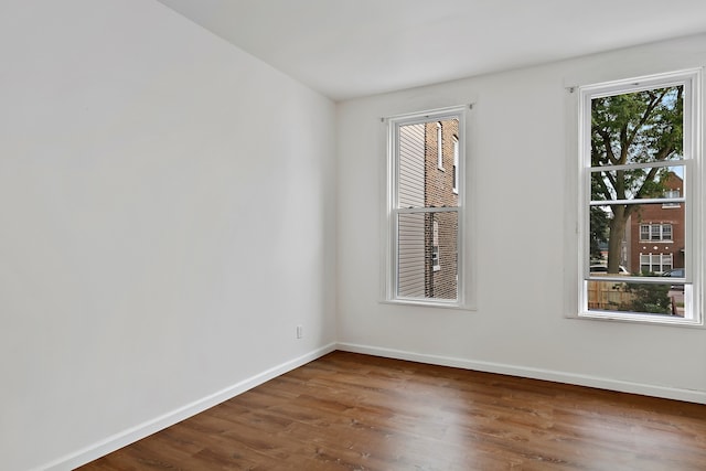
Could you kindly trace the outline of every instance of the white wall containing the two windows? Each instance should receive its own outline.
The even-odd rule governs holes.
[[[565,275],[576,264],[564,248],[566,227],[576,221],[566,182],[576,154],[567,141],[571,98],[565,87],[702,66],[705,45],[706,36],[693,36],[341,104],[341,346],[706,402],[706,330],[564,317]],[[471,101],[478,309],[381,303],[381,117]]]

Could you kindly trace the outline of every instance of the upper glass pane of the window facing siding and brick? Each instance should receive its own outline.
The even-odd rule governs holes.
[[[437,125],[440,125],[438,127]],[[398,127],[397,207],[458,206],[454,142],[457,118]],[[442,139],[438,140],[441,132]],[[439,156],[439,151],[441,154]],[[439,163],[443,163],[440,165]],[[448,169],[448,170],[445,170]]]

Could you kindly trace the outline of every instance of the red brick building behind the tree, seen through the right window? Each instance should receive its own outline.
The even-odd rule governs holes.
[[[683,195],[684,181],[671,172],[665,196]],[[684,204],[644,204],[630,218],[627,260],[631,272],[661,274],[684,267]]]

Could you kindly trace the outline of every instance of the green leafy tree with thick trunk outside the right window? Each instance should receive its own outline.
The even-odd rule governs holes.
[[[597,97],[591,101],[591,167],[663,162],[683,151],[683,86]],[[659,197],[668,175],[665,167],[595,172],[592,200]],[[618,274],[620,248],[635,204],[610,204],[608,272]],[[591,244],[592,245],[592,244]]]

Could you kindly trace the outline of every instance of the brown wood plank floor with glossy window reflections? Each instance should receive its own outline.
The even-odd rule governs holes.
[[[81,470],[706,470],[706,406],[334,352]]]

